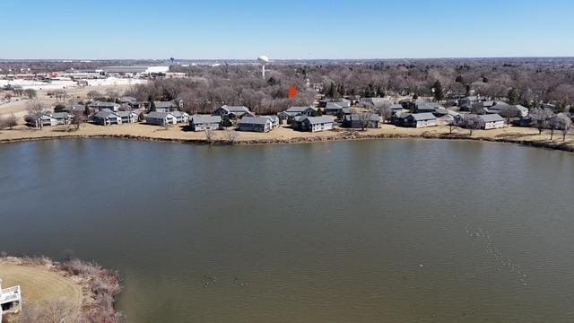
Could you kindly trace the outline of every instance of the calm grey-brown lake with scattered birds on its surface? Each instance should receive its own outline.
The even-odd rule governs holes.
[[[510,144],[1,144],[0,250],[116,268],[133,322],[571,322],[573,194]]]

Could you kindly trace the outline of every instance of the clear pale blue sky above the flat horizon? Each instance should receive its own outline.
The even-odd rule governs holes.
[[[574,57],[573,0],[0,0],[0,58]]]

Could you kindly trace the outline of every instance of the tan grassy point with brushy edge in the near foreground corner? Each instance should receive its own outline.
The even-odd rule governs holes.
[[[22,312],[6,322],[117,322],[114,309],[121,290],[117,273],[74,259],[65,263],[48,258],[0,258],[4,288],[20,285]]]

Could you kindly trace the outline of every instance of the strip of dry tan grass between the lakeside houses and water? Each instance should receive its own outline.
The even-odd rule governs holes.
[[[469,135],[468,130],[461,128],[455,128],[450,133],[448,126],[404,128],[384,125],[378,129],[367,129],[365,131],[336,128],[332,131],[318,133],[293,131],[290,127],[282,126],[269,133],[236,132],[233,130],[213,131],[212,140],[208,141],[204,132],[186,131],[186,128],[183,126],[174,125],[166,129],[145,124],[126,124],[111,127],[84,124],[79,130],[75,130],[72,126],[44,127],[42,130],[19,126],[13,130],[0,131],[0,143],[70,137],[110,137],[196,144],[230,144],[230,132],[235,133],[233,135],[234,144],[288,144],[375,138],[439,138],[527,144],[574,152],[574,135],[567,135],[566,140],[563,141],[561,133],[555,132],[551,140],[549,131],[544,131],[542,135],[538,135],[536,129],[525,127],[474,130],[473,135]]]

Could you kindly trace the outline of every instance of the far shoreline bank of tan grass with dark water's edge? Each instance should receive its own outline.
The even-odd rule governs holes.
[[[100,126],[96,126],[100,127]],[[120,130],[122,126],[117,126]],[[139,127],[142,127],[141,125]],[[147,127],[147,126],[143,126]],[[52,131],[47,130],[4,130],[0,132],[0,144],[10,144],[10,143],[20,143],[28,141],[40,141],[40,140],[50,140],[50,139],[88,139],[88,138],[103,138],[103,139],[126,139],[126,140],[136,140],[136,141],[151,141],[151,142],[169,142],[169,143],[181,143],[181,144],[213,144],[213,145],[248,145],[248,144],[308,144],[308,143],[320,143],[320,142],[334,142],[334,141],[354,141],[354,140],[378,140],[378,139],[442,139],[442,140],[471,140],[471,141],[486,141],[493,143],[505,143],[505,144],[520,144],[537,148],[546,148],[552,150],[559,150],[568,153],[574,153],[574,141],[568,138],[566,141],[561,140],[561,134],[555,134],[553,140],[546,139],[548,134],[538,135],[537,130],[533,134],[530,128],[514,128],[507,127],[497,130],[475,130],[474,134],[468,135],[468,131],[465,129],[458,129],[457,132],[449,134],[448,132],[443,132],[439,130],[444,130],[448,127],[428,127],[428,128],[390,128],[390,126],[385,125],[386,131],[379,131],[380,129],[368,129],[366,131],[359,130],[347,130],[347,129],[337,129],[335,131],[327,131],[321,133],[300,133],[289,129],[292,132],[291,136],[276,136],[274,131],[280,131],[276,129],[270,133],[239,133],[240,135],[246,135],[246,137],[239,137],[236,142],[230,142],[229,139],[222,138],[220,134],[215,136],[213,140],[207,140],[204,133],[186,133],[182,134],[169,134],[167,136],[161,135],[162,132],[155,129],[151,134],[143,135],[131,135],[126,132],[120,131],[116,134],[106,134],[106,133],[93,133],[90,131],[83,131],[81,128],[77,131],[63,131],[54,128]],[[109,129],[109,127],[100,127],[101,129]],[[288,129],[283,127],[281,131]],[[114,129],[117,130],[117,129]],[[390,130],[390,131],[388,131]],[[396,131],[393,131],[396,130]],[[462,130],[462,131],[461,131]],[[510,132],[511,130],[517,130],[517,132]],[[4,133],[15,134],[13,137],[4,137]],[[34,135],[30,135],[34,134]],[[39,132],[42,132],[41,135]],[[224,133],[224,131],[216,131],[215,133]],[[191,134],[192,136],[186,137],[185,134]],[[533,136],[542,138],[533,138]]]

